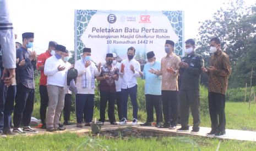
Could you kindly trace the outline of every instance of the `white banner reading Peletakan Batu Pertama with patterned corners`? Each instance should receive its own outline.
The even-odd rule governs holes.
[[[175,42],[175,54],[184,47],[183,11],[75,10],[75,50],[91,48],[95,62],[104,62],[107,53],[127,59],[127,49],[136,49],[135,59],[146,61],[154,51],[157,60],[166,56],[165,41]]]

